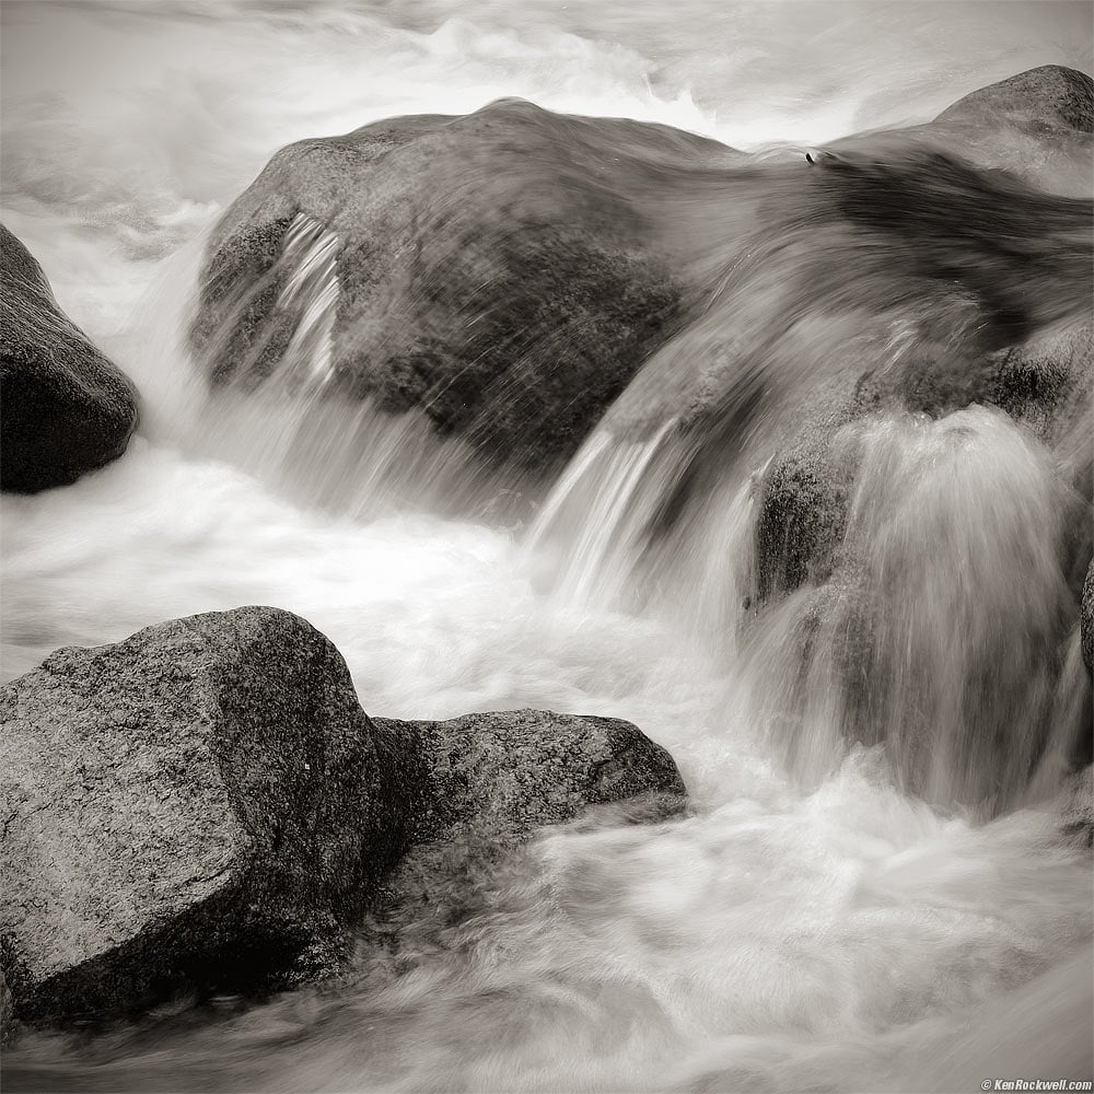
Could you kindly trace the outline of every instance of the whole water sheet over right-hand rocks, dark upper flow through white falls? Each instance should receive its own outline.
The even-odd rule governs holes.
[[[769,222],[608,411],[529,546],[565,601],[670,605],[740,654],[753,720],[806,784],[860,742],[932,804],[991,815],[1049,789],[1049,755],[1067,767],[1087,685],[1072,673],[1060,694],[1080,502],[1032,433],[976,400],[996,349],[1086,306],[1090,206],[926,149],[833,163],[736,171],[728,195],[764,173]],[[755,501],[795,410],[836,441],[806,458],[807,512],[779,544]],[[831,513],[810,493],[828,459]],[[757,580],[780,550],[807,554],[795,520],[830,523],[814,531],[834,572]]]

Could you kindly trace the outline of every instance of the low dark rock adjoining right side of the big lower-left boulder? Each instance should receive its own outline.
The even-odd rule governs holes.
[[[446,722],[391,722],[426,756],[431,805],[384,883],[368,934],[405,970],[444,933],[490,910],[499,877],[529,870],[513,851],[545,825],[677,816],[686,790],[672,757],[630,722],[519,710]],[[592,808],[590,808],[592,806]],[[369,968],[379,968],[370,954]]]

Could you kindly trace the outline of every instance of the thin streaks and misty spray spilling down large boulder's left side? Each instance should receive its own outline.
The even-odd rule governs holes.
[[[269,268],[233,283],[223,323],[196,336],[196,383],[205,392],[202,371],[217,382],[188,446],[352,517],[412,503],[511,519],[523,499],[476,468],[466,441],[439,438],[422,411],[393,415],[336,383],[339,247],[298,212]],[[241,322],[252,311],[254,329]]]

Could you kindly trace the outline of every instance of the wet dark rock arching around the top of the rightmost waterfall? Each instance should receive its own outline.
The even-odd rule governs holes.
[[[940,326],[939,318],[950,322]],[[841,429],[877,412],[943,418],[971,404],[1000,407],[1051,450],[1073,491],[1061,568],[1078,594],[1094,535],[1094,327],[1055,327],[997,352],[977,334],[966,299],[935,305],[931,322],[915,334],[912,352],[882,369],[863,368],[853,392],[847,376],[816,385],[784,416],[758,492],[759,603],[833,572],[854,481],[853,449],[835,443]]]

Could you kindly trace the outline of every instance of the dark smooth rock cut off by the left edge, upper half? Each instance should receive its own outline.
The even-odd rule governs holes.
[[[0,486],[66,486],[116,459],[137,392],[57,306],[42,268],[0,225]]]

